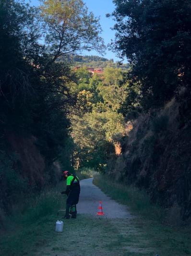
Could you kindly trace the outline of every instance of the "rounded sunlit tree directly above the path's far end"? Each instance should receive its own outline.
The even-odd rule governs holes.
[[[76,119],[72,126],[72,138],[76,145],[75,157],[80,166],[103,171],[107,158],[114,152],[112,135],[123,130],[122,116],[114,112],[92,111]]]

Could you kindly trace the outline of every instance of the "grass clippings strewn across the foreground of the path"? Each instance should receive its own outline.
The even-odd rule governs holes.
[[[67,246],[63,241],[70,241],[74,246]],[[46,247],[41,247],[38,255],[68,255],[78,256],[124,256],[128,254],[126,249],[127,234],[121,235],[116,225],[110,219],[79,215],[77,220],[66,220],[64,231],[57,235],[57,240]],[[135,248],[135,250],[139,248]],[[54,252],[52,254],[51,252]],[[137,255],[137,254],[132,254]],[[139,254],[138,254],[139,255]],[[140,254],[142,256],[155,256],[154,253]]]

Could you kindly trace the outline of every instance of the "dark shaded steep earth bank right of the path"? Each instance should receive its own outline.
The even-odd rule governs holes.
[[[191,222],[190,109],[191,97],[185,104],[172,99],[127,122],[121,154],[108,162],[108,175],[145,189],[169,209],[170,224]]]

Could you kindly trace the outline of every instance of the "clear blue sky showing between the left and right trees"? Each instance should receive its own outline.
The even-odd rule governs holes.
[[[31,5],[38,5],[38,0],[31,0]],[[95,16],[100,16],[100,25],[102,27],[102,38],[107,45],[111,39],[115,39],[115,31],[111,30],[111,27],[115,24],[112,18],[106,18],[106,13],[112,13],[115,9],[115,5],[112,0],[84,0],[84,3],[88,7],[90,12],[93,12]],[[99,55],[96,51],[84,52],[86,55]],[[107,50],[104,55],[107,59],[114,59],[114,61],[119,60],[116,54]]]

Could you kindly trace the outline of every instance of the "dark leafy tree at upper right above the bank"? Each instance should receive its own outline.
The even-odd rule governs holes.
[[[142,108],[159,107],[180,85],[191,82],[190,0],[114,3],[117,32],[112,48],[129,59],[130,79],[140,85]]]

